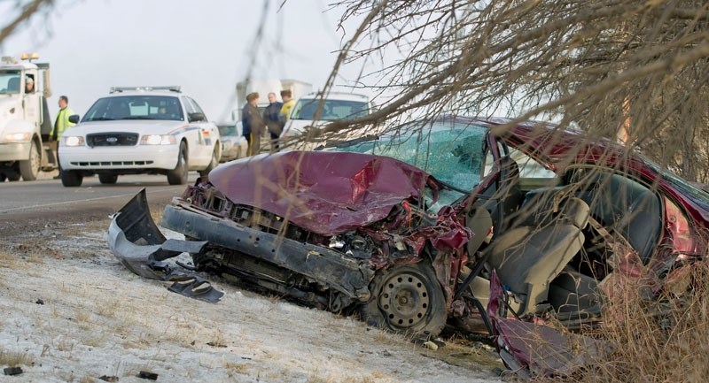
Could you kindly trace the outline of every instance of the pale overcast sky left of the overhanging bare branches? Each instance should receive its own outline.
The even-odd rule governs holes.
[[[4,2],[4,7],[14,2]],[[322,88],[343,32],[330,0],[271,0],[254,78]],[[252,63],[265,0],[58,0],[0,45],[2,56],[37,52],[51,65],[51,113],[59,95],[83,115],[113,86],[180,85],[211,120],[228,119],[235,86]],[[0,7],[1,8],[1,7]],[[10,21],[0,9],[0,26]],[[49,21],[48,23],[46,21]],[[347,69],[340,82],[354,80]],[[351,79],[348,79],[350,77]],[[240,106],[240,105],[239,105]],[[53,117],[52,117],[53,119]]]

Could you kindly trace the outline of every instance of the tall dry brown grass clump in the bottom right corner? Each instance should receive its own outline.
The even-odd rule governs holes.
[[[709,376],[709,264],[674,272],[659,301],[628,283],[608,303],[593,335],[612,352],[588,365],[577,382],[704,382]],[[568,379],[565,379],[568,381]]]

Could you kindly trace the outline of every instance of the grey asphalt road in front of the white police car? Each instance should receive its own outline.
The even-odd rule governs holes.
[[[190,172],[187,185],[179,186],[169,185],[163,175],[120,176],[115,185],[87,177],[80,188],[65,188],[51,175],[32,182],[0,182],[0,239],[36,226],[107,221],[142,188],[147,189],[151,210],[160,211],[199,176]]]

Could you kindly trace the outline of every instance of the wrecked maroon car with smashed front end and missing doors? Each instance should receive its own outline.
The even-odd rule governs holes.
[[[134,271],[182,249],[199,271],[432,335],[492,331],[493,272],[510,318],[579,328],[613,283],[651,273],[661,287],[705,254],[704,191],[612,142],[506,122],[437,119],[220,165],[163,212],[183,244],[164,244],[144,203],[117,214],[109,244]]]

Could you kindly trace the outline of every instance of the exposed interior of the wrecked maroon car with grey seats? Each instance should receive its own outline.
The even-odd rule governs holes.
[[[485,267],[466,287],[487,307],[487,279],[495,269],[514,315],[553,310],[567,326],[598,318],[599,283],[612,272],[612,248],[588,222],[622,236],[647,263],[662,234],[658,194],[628,174],[590,165],[570,168],[546,180],[548,186],[534,188],[544,183],[520,177],[520,167],[528,164],[508,155],[501,165],[500,177],[478,202],[489,212],[495,238],[489,246],[473,242],[477,252],[469,247],[471,269],[477,262]]]

